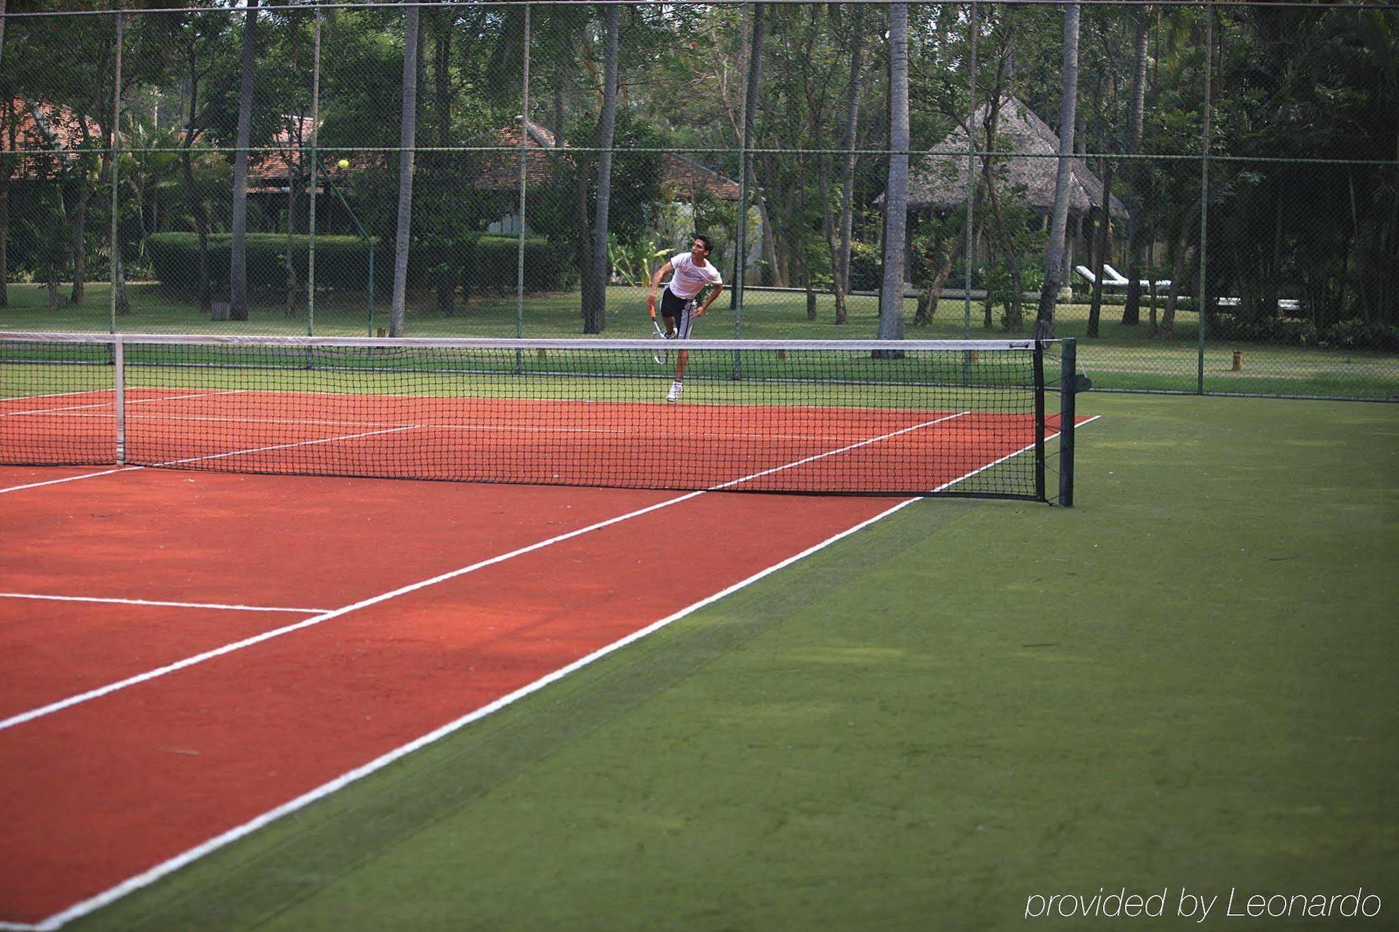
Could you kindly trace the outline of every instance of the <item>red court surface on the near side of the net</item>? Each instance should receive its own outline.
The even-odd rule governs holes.
[[[1030,439],[986,427],[914,431],[970,431],[926,487]],[[0,928],[90,911],[902,504],[0,466]]]

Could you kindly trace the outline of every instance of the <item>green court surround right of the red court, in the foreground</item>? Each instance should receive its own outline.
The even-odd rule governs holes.
[[[918,502],[73,928],[1011,929],[1100,887],[1384,922],[1395,410],[1080,411],[1077,508]]]

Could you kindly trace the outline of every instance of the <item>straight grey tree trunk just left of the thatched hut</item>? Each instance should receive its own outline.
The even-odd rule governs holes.
[[[884,281],[879,337],[904,339],[904,242],[908,227],[908,4],[888,8],[888,188],[884,197]]]

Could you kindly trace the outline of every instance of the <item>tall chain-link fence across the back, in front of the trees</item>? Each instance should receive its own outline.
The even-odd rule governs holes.
[[[697,336],[1399,399],[1393,6],[73,7],[0,18],[0,329],[644,336],[705,232]]]

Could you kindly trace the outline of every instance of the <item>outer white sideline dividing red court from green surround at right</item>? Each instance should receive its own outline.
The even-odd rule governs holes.
[[[1097,416],[1095,417],[1090,417],[1090,418],[1084,420],[1081,424],[1079,424],[1079,427],[1081,427],[1083,424],[1087,424],[1090,421],[1095,421],[1095,420],[1098,420]],[[1058,434],[1053,434],[1053,437],[1058,437]],[[1045,437],[1045,439],[1046,441],[1048,439],[1053,439],[1053,437]],[[1028,446],[1024,446],[1024,448],[1016,451],[1010,456],[1017,456],[1020,453],[1024,453],[1028,449],[1034,449],[1034,444],[1030,444]],[[1000,460],[996,460],[996,462],[997,463],[1003,462],[1004,459],[1009,459],[1010,456],[1004,456],[1004,458],[1002,458]],[[950,486],[954,486],[954,484],[963,481],[964,479],[975,476],[977,473],[979,473],[979,472],[982,472],[983,469],[988,469],[988,467],[989,466],[982,466],[982,467],[978,467],[978,469],[975,469],[975,470],[972,470],[972,472],[970,472],[970,473],[967,473],[964,476],[958,476],[957,479],[954,479],[951,481],[943,483],[942,486],[939,486],[933,491],[943,491],[943,490],[949,488]],[[683,495],[681,498],[674,500],[674,501],[683,501],[686,498],[694,498],[695,495],[702,495],[702,494],[704,493],[691,493],[691,494]],[[511,705],[511,704],[513,704],[513,702],[525,698],[530,693],[536,693],[536,691],[544,689],[546,686],[554,683],[555,680],[560,680],[560,679],[568,676],[569,673],[574,673],[574,672],[576,672],[576,670],[579,670],[579,669],[582,669],[582,668],[593,663],[595,661],[599,661],[599,659],[607,656],[609,654],[620,651],[621,648],[624,648],[624,647],[627,647],[627,645],[630,645],[630,644],[632,644],[635,641],[639,641],[641,638],[645,638],[645,637],[648,637],[651,634],[655,634],[660,628],[665,628],[666,626],[669,626],[669,624],[672,624],[674,621],[679,621],[680,619],[683,619],[683,617],[686,617],[686,616],[688,616],[688,614],[691,614],[694,612],[698,612],[700,609],[702,609],[702,607],[705,607],[705,606],[708,606],[708,605],[711,605],[713,602],[718,602],[719,599],[722,599],[722,598],[725,598],[727,595],[732,595],[732,593],[737,592],[739,589],[743,589],[743,588],[746,588],[746,586],[757,582],[758,579],[762,579],[764,577],[768,577],[768,575],[776,572],[778,570],[789,567],[793,563],[796,563],[799,560],[803,560],[803,558],[811,556],[813,553],[817,553],[818,550],[824,550],[825,547],[831,546],[832,543],[835,543],[838,540],[842,540],[842,539],[845,539],[845,537],[848,537],[848,536],[851,536],[851,535],[853,535],[853,533],[856,533],[856,532],[859,532],[859,530],[862,530],[862,529],[873,525],[877,521],[883,521],[884,518],[888,518],[894,512],[897,512],[897,511],[900,511],[902,508],[907,508],[908,505],[914,504],[915,501],[918,501],[918,500],[916,498],[905,498],[904,501],[893,505],[891,508],[887,508],[887,509],[881,511],[880,514],[874,515],[873,518],[869,518],[869,519],[866,519],[866,521],[863,521],[863,522],[860,522],[860,523],[858,523],[858,525],[855,525],[852,528],[848,528],[846,530],[842,530],[842,532],[839,532],[839,533],[837,533],[837,535],[834,535],[831,537],[827,537],[821,543],[813,544],[811,547],[807,547],[802,553],[793,554],[793,556],[788,557],[786,560],[775,563],[771,567],[753,574],[747,579],[741,579],[740,582],[733,584],[727,589],[723,589],[720,592],[716,592],[716,593],[705,598],[705,599],[701,599],[700,602],[695,602],[695,603],[693,603],[690,606],[686,606],[684,609],[680,609],[674,614],[666,616],[665,619],[660,619],[659,621],[653,621],[652,624],[646,626],[645,628],[632,631],[631,634],[628,634],[628,635],[625,635],[623,638],[618,638],[617,641],[613,641],[611,644],[593,651],[588,656],[583,656],[583,658],[579,658],[579,659],[574,661],[568,666],[562,666],[562,668],[560,668],[560,669],[557,669],[557,670],[554,670],[551,673],[547,673],[547,675],[541,676],[540,679],[534,680],[533,683],[522,686],[520,689],[515,690],[513,693],[509,693],[508,696],[502,696],[501,698],[495,700],[494,702],[491,702],[488,705],[483,705],[478,709],[467,712],[466,715],[457,718],[456,721],[448,722],[446,725],[438,728],[436,730],[428,732],[427,735],[422,735],[421,737],[417,737],[417,739],[409,742],[407,744],[402,744],[402,746],[393,749],[392,751],[388,751],[386,754],[382,754],[381,757],[376,757],[375,760],[372,760],[372,761],[369,761],[367,764],[355,767],[354,770],[347,771],[347,772],[341,774],[340,777],[336,777],[334,779],[332,779],[332,781],[329,781],[326,784],[322,784],[320,786],[316,786],[315,789],[311,789],[311,791],[302,793],[301,796],[297,796],[292,800],[288,800],[288,802],[283,803],[281,806],[277,806],[276,809],[270,809],[270,810],[262,813],[260,816],[256,816],[256,817],[250,819],[249,821],[245,821],[241,826],[235,826],[234,828],[229,828],[228,831],[222,833],[221,835],[215,835],[214,838],[210,838],[208,841],[206,841],[206,842],[203,842],[200,845],[196,845],[196,847],[193,847],[193,848],[190,848],[190,849],[187,849],[187,851],[185,851],[182,854],[178,854],[173,858],[171,858],[168,861],[164,861],[162,863],[155,865],[150,870],[145,870],[144,873],[136,875],[134,877],[129,877],[129,879],[123,880],[122,883],[116,884],[115,887],[111,887],[111,889],[108,889],[108,890],[105,890],[105,891],[102,891],[102,893],[99,893],[99,894],[97,894],[97,896],[94,896],[94,897],[91,897],[88,900],[83,900],[81,903],[77,903],[77,904],[69,907],[67,910],[64,910],[62,912],[56,912],[56,914],[50,915],[49,918],[43,919],[42,922],[39,922],[38,925],[8,925],[8,926],[6,926],[4,924],[0,924],[0,929],[10,928],[10,929],[24,929],[25,932],[50,932],[52,929],[57,929],[57,928],[63,926],[66,922],[70,922],[73,919],[77,919],[78,917],[83,917],[83,915],[87,915],[90,912],[95,911],[95,910],[99,910],[99,908],[108,905],[109,903],[113,903],[113,901],[125,897],[126,894],[129,894],[129,893],[132,893],[134,890],[140,890],[141,887],[145,887],[145,886],[150,886],[151,883],[155,883],[161,877],[165,877],[166,875],[171,875],[175,870],[179,870],[180,868],[183,868],[187,863],[199,861],[200,858],[203,858],[203,856],[206,856],[206,855],[208,855],[208,854],[211,854],[214,851],[218,851],[220,848],[222,848],[225,845],[229,845],[234,841],[238,841],[239,838],[243,838],[243,837],[246,837],[246,835],[257,831],[263,826],[267,826],[267,824],[270,824],[273,821],[277,821],[283,816],[288,816],[288,814],[291,814],[294,812],[305,809],[306,806],[309,806],[311,803],[316,802],[318,799],[329,796],[330,793],[334,793],[334,792],[337,792],[337,791],[348,786],[350,784],[353,784],[353,782],[355,782],[355,781],[358,781],[358,779],[361,779],[364,777],[368,777],[368,775],[371,775],[371,774],[374,774],[376,771],[383,770],[385,767],[388,767],[393,761],[396,761],[396,760],[399,760],[402,757],[406,757],[407,754],[411,754],[416,750],[427,747],[428,744],[432,744],[432,743],[435,743],[435,742],[438,742],[438,740],[441,740],[441,739],[452,735],[453,732],[460,730],[462,728],[470,725],[471,722],[476,722],[477,719],[485,718],[487,715],[490,715],[492,712],[497,712],[497,711],[505,708],[506,705]],[[662,502],[660,505],[655,505],[653,508],[663,508],[666,504],[672,504],[672,502]],[[613,521],[620,521],[620,519],[613,519]],[[581,532],[576,532],[576,533],[581,533]]]

